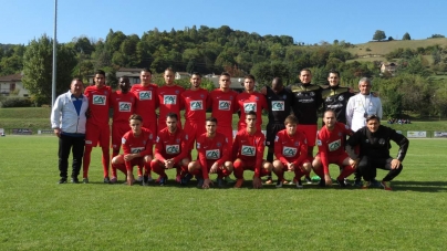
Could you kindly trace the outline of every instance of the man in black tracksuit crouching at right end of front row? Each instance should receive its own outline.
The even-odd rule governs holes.
[[[389,140],[399,146],[396,158],[389,156]],[[354,165],[365,180],[363,188],[370,187],[371,180],[376,175],[376,168],[381,168],[389,170],[382,179],[381,185],[385,190],[392,190],[389,181],[402,171],[402,161],[405,158],[408,145],[409,142],[404,135],[381,125],[378,116],[374,114],[367,116],[366,126],[355,132],[346,144],[346,153],[350,158],[354,159]],[[356,146],[360,146],[358,155],[355,154]]]

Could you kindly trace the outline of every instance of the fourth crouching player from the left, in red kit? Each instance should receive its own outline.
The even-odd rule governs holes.
[[[257,129],[256,121],[256,112],[248,112],[246,114],[247,127],[236,134],[235,142],[232,143],[232,159],[236,159],[233,167],[237,178],[235,188],[242,186],[245,170],[254,171],[253,188],[261,188],[261,177],[272,170],[271,163],[262,159],[266,136]]]

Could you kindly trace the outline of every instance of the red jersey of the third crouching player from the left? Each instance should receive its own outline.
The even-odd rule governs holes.
[[[228,140],[221,133],[216,133],[212,138],[207,137],[205,133],[197,138],[196,148],[204,179],[209,178],[208,164],[217,163],[220,166],[225,161],[230,160],[230,144],[228,144]]]

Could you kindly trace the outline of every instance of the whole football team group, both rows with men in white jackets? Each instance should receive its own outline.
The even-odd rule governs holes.
[[[188,90],[174,83],[171,69],[164,72],[162,86],[152,83],[148,69],[141,71],[141,83],[132,86],[128,77],[121,77],[117,91],[106,85],[105,75],[96,71],[94,85],[87,87],[74,79],[70,91],[53,105],[51,126],[59,137],[59,184],[89,184],[92,149],[96,146],[102,149],[104,182],[118,182],[118,172],[123,172],[119,177],[129,186],[166,186],[166,170],[175,169],[175,177],[169,179],[179,186],[188,186],[194,179],[199,188],[241,188],[247,170],[253,174],[253,188],[269,184],[303,188],[304,182],[312,182],[313,171],[321,187],[392,190],[391,181],[403,169],[409,142],[381,125],[382,103],[371,92],[367,77],[358,81],[355,94],[340,86],[340,73],[334,70],[328,74],[325,88],[311,83],[309,69],[300,71],[298,84],[284,86],[280,77],[274,77],[259,92],[254,90],[254,76],[246,75],[241,93],[230,90],[231,76],[226,72],[219,76],[219,87],[211,92],[200,87],[200,73],[190,75]],[[267,122],[262,121],[263,112],[268,113]],[[232,126],[233,114],[239,115],[237,128]],[[394,157],[389,154],[391,142],[398,147]],[[315,146],[318,153],[313,155]],[[330,164],[339,166],[340,172],[331,175]],[[376,179],[377,168],[387,170],[382,179]],[[293,172],[294,178],[287,180],[285,171]],[[214,180],[212,174],[217,176]],[[346,179],[351,175],[353,184]]]

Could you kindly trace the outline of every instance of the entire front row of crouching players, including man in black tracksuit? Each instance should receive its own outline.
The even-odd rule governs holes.
[[[124,154],[112,160],[113,179],[116,179],[118,169],[126,175],[127,184],[133,185],[133,166],[138,166],[145,170],[143,185],[150,181],[148,174],[152,170],[159,175],[157,182],[164,186],[168,179],[165,170],[176,168],[183,185],[196,177],[198,187],[209,188],[212,184],[209,175],[217,174],[217,186],[224,187],[225,178],[233,172],[237,178],[235,187],[240,188],[245,181],[243,171],[251,170],[254,172],[253,188],[261,188],[261,177],[270,171],[278,176],[277,187],[282,187],[284,171],[293,171],[297,188],[302,188],[301,177],[312,169],[320,176],[321,186],[332,185],[329,165],[335,164],[341,167],[336,178],[340,187],[345,187],[345,178],[358,168],[365,180],[363,188],[367,188],[376,176],[376,168],[381,168],[389,170],[381,185],[391,190],[389,181],[401,172],[402,161],[408,148],[408,139],[394,129],[382,126],[375,115],[366,118],[364,128],[353,133],[346,125],[336,122],[333,111],[326,111],[323,116],[325,125],[318,134],[319,153],[313,160],[308,157],[305,136],[297,130],[298,118],[290,115],[284,122],[285,129],[280,130],[274,139],[277,159],[271,164],[263,159],[264,135],[257,129],[256,121],[254,112],[247,113],[247,127],[237,133],[231,144],[231,138],[217,132],[217,119],[207,118],[206,133],[196,139],[197,160],[190,161],[188,138],[177,126],[178,117],[175,113],[167,115],[167,127],[160,130],[155,139],[155,153],[154,134],[142,127],[143,118],[139,115],[132,115],[132,130],[123,136],[122,142]],[[350,136],[347,142],[346,136]],[[399,146],[396,158],[389,156],[389,140]]]

